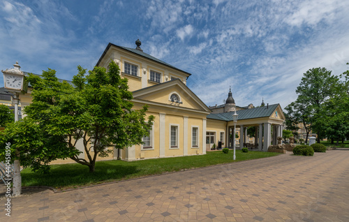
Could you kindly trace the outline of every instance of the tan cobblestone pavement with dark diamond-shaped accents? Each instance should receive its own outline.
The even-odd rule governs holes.
[[[40,191],[13,198],[0,221],[349,221],[349,150],[290,154]]]

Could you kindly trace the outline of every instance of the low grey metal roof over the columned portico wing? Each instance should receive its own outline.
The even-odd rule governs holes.
[[[258,108],[237,110],[237,114],[238,114],[237,119],[242,120],[242,119],[255,119],[260,117],[270,117],[278,106],[279,106],[279,103],[269,105],[269,106],[262,106]],[[232,114],[234,114],[234,112],[210,113],[207,115],[207,119],[232,121]]]

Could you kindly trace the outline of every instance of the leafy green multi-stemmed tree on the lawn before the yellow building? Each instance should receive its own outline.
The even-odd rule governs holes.
[[[27,121],[38,125],[35,133],[43,135],[42,145],[38,145],[41,153],[52,154],[47,161],[71,158],[94,172],[97,156],[107,156],[112,153],[111,148],[123,149],[142,143],[143,136],[149,135],[154,116],[146,120],[147,106],[131,110],[133,96],[128,91],[128,80],[121,79],[119,66],[113,61],[109,71],[95,67],[86,75],[86,69],[81,66],[77,69],[74,87],[66,81],[59,82],[50,68],[43,71],[43,78],[29,74],[33,103],[24,111]],[[79,157],[79,140],[86,159]],[[20,151],[22,156],[25,150]]]

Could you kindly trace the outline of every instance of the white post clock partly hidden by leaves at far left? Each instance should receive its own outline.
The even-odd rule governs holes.
[[[14,68],[1,71],[3,73],[4,87],[12,92],[13,105],[15,105],[15,122],[18,121],[18,104],[20,103],[20,92],[27,92],[28,82],[25,81],[24,73],[20,70],[18,61],[13,65]],[[20,175],[20,151],[16,150],[17,159],[14,162],[14,176],[13,176],[13,195],[20,195],[22,193],[22,177]]]

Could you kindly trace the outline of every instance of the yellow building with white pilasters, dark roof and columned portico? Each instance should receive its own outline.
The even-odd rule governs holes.
[[[143,145],[125,147],[119,153],[114,150],[110,156],[98,160],[115,159],[118,156],[126,161],[135,161],[145,158],[200,155],[206,154],[213,144],[218,145],[218,141],[223,142],[223,147],[232,147],[229,136],[234,127],[232,111],[236,106],[235,102],[231,101],[231,92],[223,112],[216,110],[212,113],[214,109],[207,107],[186,86],[190,73],[143,52],[139,40],[136,41],[136,45],[134,49],[109,43],[96,66],[108,68],[110,61],[119,65],[121,77],[128,79],[129,90],[133,91],[134,109],[148,105],[147,114],[154,115],[154,126],[149,137],[143,138]],[[31,103],[30,87],[28,94],[21,95],[20,100],[24,107]],[[253,108],[250,104],[247,108],[238,107],[237,110],[239,114],[237,124],[242,135],[240,147],[247,141],[244,140],[246,126],[258,126],[262,132],[261,127],[264,124],[265,147],[271,142],[271,126],[275,127],[274,132],[279,132],[278,135],[282,132],[281,124],[284,117],[279,104],[265,108]],[[262,141],[260,138],[258,140]],[[80,142],[77,142],[77,149],[82,151],[80,157],[86,157]],[[267,151],[267,148],[263,150]],[[54,161],[54,163],[73,162],[70,159]]]

